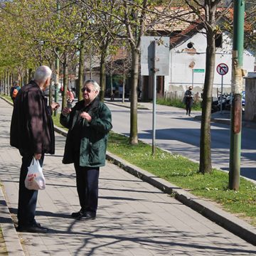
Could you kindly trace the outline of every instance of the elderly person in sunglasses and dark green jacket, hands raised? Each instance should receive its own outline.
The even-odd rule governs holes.
[[[83,100],[70,109],[63,108],[60,123],[68,128],[63,164],[74,163],[80,210],[73,218],[96,218],[100,166],[105,166],[107,134],[112,129],[111,112],[97,95],[100,86],[87,80]]]

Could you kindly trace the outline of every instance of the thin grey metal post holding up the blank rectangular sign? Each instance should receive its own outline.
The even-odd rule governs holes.
[[[152,154],[155,156],[156,154],[156,145],[155,145],[155,139],[156,139],[156,41],[153,41],[153,128],[152,128]]]

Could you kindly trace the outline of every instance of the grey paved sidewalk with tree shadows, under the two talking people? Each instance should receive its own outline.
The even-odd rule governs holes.
[[[16,233],[10,215],[6,213],[10,210],[16,221],[21,157],[9,146],[11,111],[12,107],[0,99],[0,180],[5,192],[5,198],[0,195],[0,224],[9,255],[23,255],[23,252],[24,255],[64,256],[256,254],[255,246],[110,162],[100,171],[97,219],[73,220],[70,213],[79,209],[75,173],[73,165],[61,164],[65,137],[59,134],[56,134],[55,155],[45,159],[43,170],[47,187],[45,191],[39,191],[36,213],[38,222],[50,228],[50,233]],[[112,161],[121,161],[129,171],[140,173],[142,178],[152,179],[154,183],[158,181],[165,188],[174,188],[147,172],[134,169],[116,156],[112,157]],[[201,201],[180,188],[176,191],[183,201],[186,201],[185,196],[191,197],[191,204]],[[210,208],[217,211],[210,202],[204,203],[206,211]],[[227,214],[221,210],[220,213]],[[224,217],[240,224],[233,215]],[[242,224],[250,229],[250,225]]]

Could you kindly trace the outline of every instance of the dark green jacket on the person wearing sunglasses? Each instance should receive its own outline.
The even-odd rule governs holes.
[[[60,114],[60,124],[68,128],[63,164],[74,163],[73,144],[76,137],[76,139],[80,138],[80,152],[77,153],[80,154],[80,166],[105,166],[107,134],[112,129],[111,112],[103,102],[96,98],[87,110],[92,117],[92,121],[87,122],[86,119],[82,119],[80,132],[76,134],[76,132],[73,132],[73,128],[84,109],[84,105],[84,100],[81,100],[76,103],[67,117]]]

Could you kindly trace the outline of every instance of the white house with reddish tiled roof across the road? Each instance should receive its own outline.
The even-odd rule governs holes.
[[[228,65],[228,73],[223,75],[223,92],[231,90],[232,41],[228,33],[222,33],[215,41],[215,74],[213,96],[220,92],[222,75],[217,73],[220,63]],[[170,38],[169,75],[158,77],[158,96],[167,94],[181,97],[189,85],[194,92],[202,92],[206,72],[206,34],[198,27],[188,26],[182,33]],[[255,58],[247,50],[243,55],[243,68],[248,72],[254,71]],[[151,80],[143,77],[144,99],[151,99]],[[147,88],[145,87],[147,85]]]

